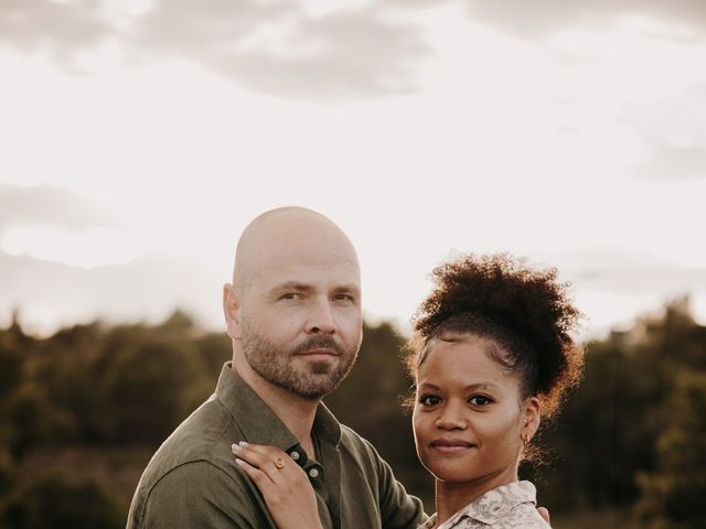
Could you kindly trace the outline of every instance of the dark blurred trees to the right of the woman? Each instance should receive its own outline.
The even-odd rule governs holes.
[[[706,376],[706,327],[694,322],[687,300],[677,300],[660,316],[588,344],[588,352],[581,387],[545,433],[560,455],[539,468],[544,501],[559,509],[639,503],[644,520],[676,520],[661,487],[682,501],[689,487],[702,497],[706,492],[696,471],[706,467],[698,455],[705,453],[706,386],[698,380]],[[692,516],[696,507],[680,508]]]

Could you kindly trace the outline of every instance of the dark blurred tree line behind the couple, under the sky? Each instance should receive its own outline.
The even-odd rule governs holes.
[[[0,528],[125,527],[140,473],[215,387],[224,333],[183,312],[96,321],[47,338],[0,330]],[[403,400],[405,338],[366,325],[356,367],[325,400],[432,509]],[[706,527],[706,327],[688,300],[586,344],[586,374],[523,467],[560,527]],[[559,527],[559,523],[557,523]]]

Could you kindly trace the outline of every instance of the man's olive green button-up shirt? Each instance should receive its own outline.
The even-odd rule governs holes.
[[[307,472],[325,529],[416,528],[421,503],[408,496],[375,449],[321,403],[313,423],[319,461],[226,364],[216,391],[157,451],[138,484],[128,529],[275,528],[231,444],[285,450]]]

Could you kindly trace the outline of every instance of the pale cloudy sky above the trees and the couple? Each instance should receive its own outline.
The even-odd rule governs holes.
[[[0,325],[223,330],[256,215],[357,248],[404,332],[464,252],[556,266],[584,335],[706,322],[700,0],[0,0]]]

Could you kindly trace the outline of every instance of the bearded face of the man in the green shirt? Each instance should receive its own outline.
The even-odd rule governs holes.
[[[361,344],[357,260],[340,239],[306,228],[269,239],[242,294],[239,339],[248,364],[307,399],[339,385]]]

